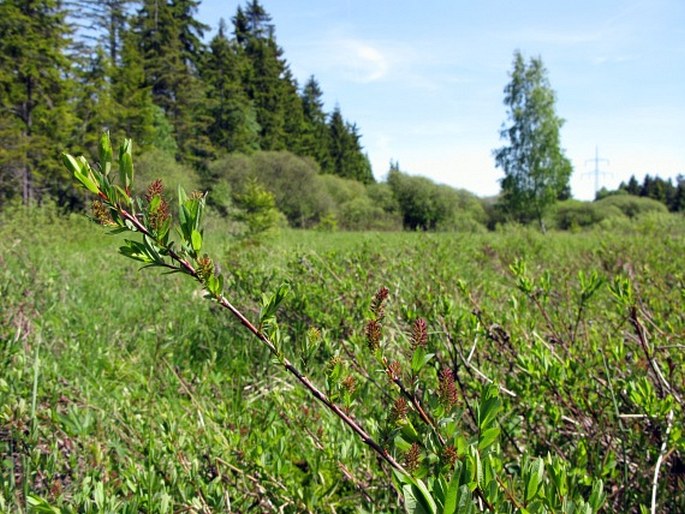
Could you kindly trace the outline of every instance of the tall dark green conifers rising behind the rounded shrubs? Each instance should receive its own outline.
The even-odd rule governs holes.
[[[361,134],[300,86],[258,0],[209,27],[196,0],[0,4],[0,198],[77,207],[59,152],[90,154],[103,129],[202,172],[230,153],[289,151],[322,173],[374,181]]]

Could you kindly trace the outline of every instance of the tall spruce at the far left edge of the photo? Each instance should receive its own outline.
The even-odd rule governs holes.
[[[0,188],[25,204],[74,200],[56,159],[73,126],[65,17],[55,0],[0,2]]]

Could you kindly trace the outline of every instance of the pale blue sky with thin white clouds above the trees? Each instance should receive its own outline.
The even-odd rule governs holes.
[[[548,71],[575,198],[632,174],[685,175],[685,0],[260,3],[299,83],[314,75],[327,112],[339,105],[357,124],[377,180],[392,160],[497,194],[492,152],[507,144],[499,132],[516,50]],[[231,26],[238,4],[202,0],[198,18],[213,31],[220,18]]]

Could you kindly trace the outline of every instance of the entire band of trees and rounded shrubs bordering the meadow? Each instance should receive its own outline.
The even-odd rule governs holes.
[[[662,204],[684,208],[682,178],[673,185],[649,176],[642,185],[634,177],[622,184],[617,193],[626,198],[563,201],[570,197],[559,143],[563,120],[542,61],[526,62],[518,52],[505,88],[507,145],[495,152],[506,175],[499,198],[411,176],[397,163],[376,183],[359,128],[339,106],[325,110],[315,77],[297,83],[260,2],[239,5],[209,42],[210,27],[195,18],[198,5],[0,3],[0,209],[46,198],[83,208],[84,196],[58,156],[65,148],[95,154],[103,129],[115,141],[134,140],[145,180],[210,191],[211,205],[252,226],[247,232],[266,221],[429,231],[537,221],[569,229],[663,210]],[[248,212],[259,214],[248,219]]]

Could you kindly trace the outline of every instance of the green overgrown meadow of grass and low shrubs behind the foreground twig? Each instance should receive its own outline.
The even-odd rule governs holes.
[[[123,236],[84,217],[1,216],[1,512],[421,512],[189,277],[139,270],[117,255]],[[579,512],[569,502],[582,498],[590,511],[685,512],[682,217],[547,235],[283,230],[261,243],[213,220],[205,238],[248,318],[288,285],[271,327],[280,351],[438,506],[431,477],[481,452],[500,478],[465,479],[480,508]],[[405,412],[399,383],[416,400]]]

